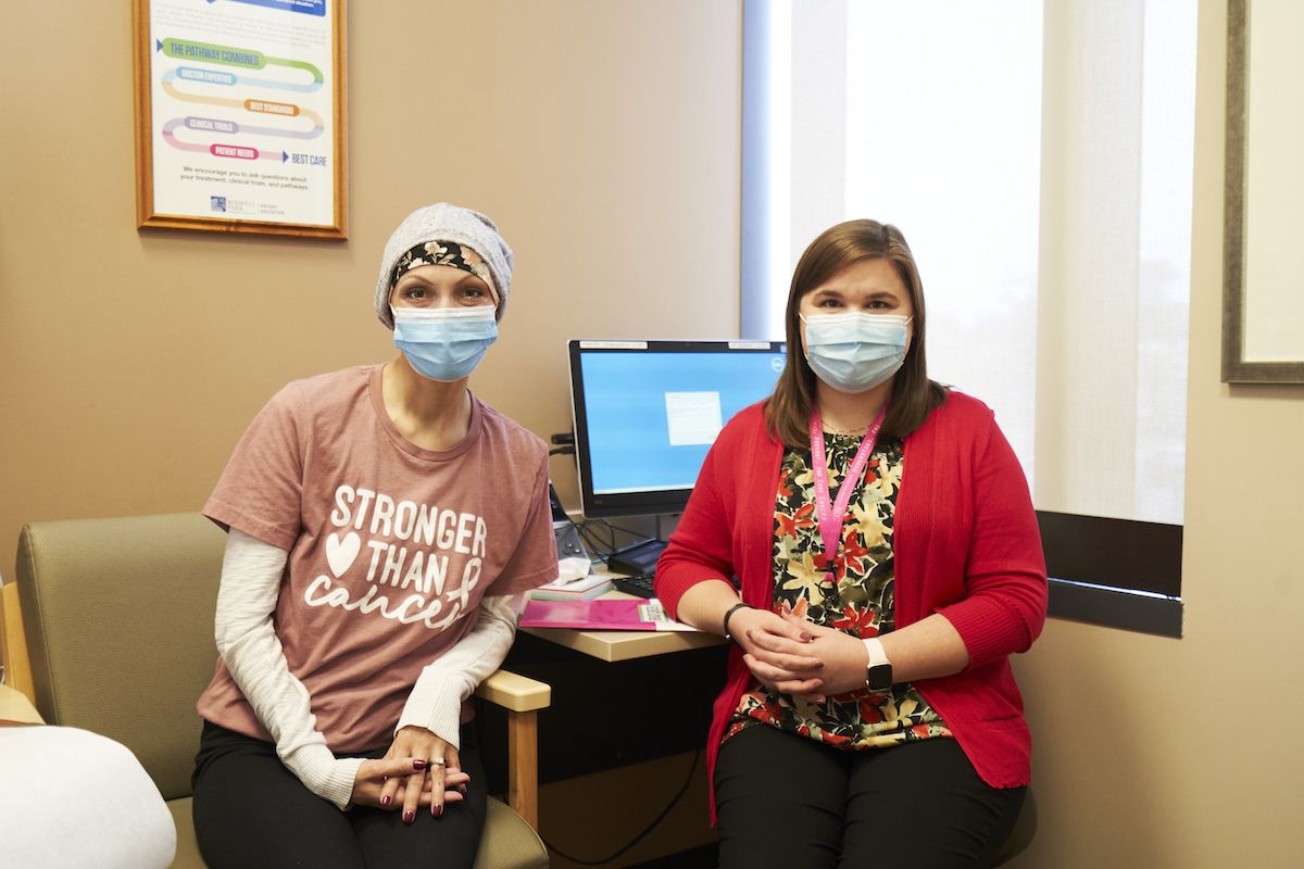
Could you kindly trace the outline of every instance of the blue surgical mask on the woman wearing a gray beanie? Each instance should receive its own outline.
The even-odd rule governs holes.
[[[432,380],[460,380],[498,340],[493,305],[395,307],[394,345],[408,365]]]

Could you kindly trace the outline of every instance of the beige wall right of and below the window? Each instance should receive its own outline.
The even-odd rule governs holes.
[[[1304,860],[1304,387],[1219,383],[1224,22],[1201,0],[1185,637],[1051,620],[1017,662],[1042,810],[1021,868]]]

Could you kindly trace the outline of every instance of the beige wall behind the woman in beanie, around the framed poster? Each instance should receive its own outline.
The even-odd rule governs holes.
[[[198,509],[279,386],[393,356],[376,270],[428,202],[516,250],[473,387],[541,435],[567,339],[737,335],[737,0],[355,0],[343,244],[137,232],[129,8],[0,12],[0,573],[22,522]]]

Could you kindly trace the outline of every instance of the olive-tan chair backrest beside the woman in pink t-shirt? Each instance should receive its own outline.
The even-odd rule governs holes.
[[[18,541],[38,710],[126,745],[164,799],[190,793],[224,545],[200,513],[37,522]]]

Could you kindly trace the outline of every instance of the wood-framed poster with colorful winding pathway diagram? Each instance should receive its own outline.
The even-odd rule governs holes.
[[[347,237],[344,0],[134,0],[137,227]]]

